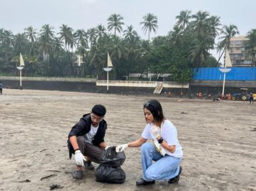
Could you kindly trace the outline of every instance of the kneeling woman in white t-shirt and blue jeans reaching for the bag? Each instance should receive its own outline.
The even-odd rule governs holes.
[[[156,100],[144,103],[146,127],[139,140],[116,146],[116,152],[127,147],[141,148],[143,175],[136,185],[154,184],[155,180],[169,180],[169,184],[179,182],[182,167],[182,146],[177,139],[175,126],[165,119],[161,104]],[[152,142],[146,142],[151,139]],[[155,161],[154,163],[152,161]]]

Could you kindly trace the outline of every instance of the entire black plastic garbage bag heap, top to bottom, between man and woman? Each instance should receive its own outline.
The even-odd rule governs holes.
[[[121,165],[125,162],[125,153],[116,153],[116,147],[108,147],[101,156],[95,177],[97,182],[121,184],[125,182],[125,171]]]

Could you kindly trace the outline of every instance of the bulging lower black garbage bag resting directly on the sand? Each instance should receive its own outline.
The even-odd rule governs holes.
[[[96,169],[96,181],[121,184],[125,182],[125,171],[121,167],[99,165]]]

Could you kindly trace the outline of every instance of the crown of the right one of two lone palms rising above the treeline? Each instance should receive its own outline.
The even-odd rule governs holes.
[[[157,26],[157,17],[154,16],[152,13],[146,14],[146,16],[143,17],[143,22],[140,22],[142,24],[142,30],[144,30],[145,34],[148,32],[148,41],[150,41],[150,32],[152,30],[156,32]]]

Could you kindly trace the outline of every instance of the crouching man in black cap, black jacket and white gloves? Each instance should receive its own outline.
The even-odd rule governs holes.
[[[83,178],[83,166],[85,169],[94,169],[91,161],[100,163],[100,156],[106,148],[104,142],[107,129],[105,114],[106,108],[103,105],[94,105],[91,113],[83,115],[68,134],[69,157],[71,159],[74,154],[77,163],[77,169],[72,175],[74,179]]]

